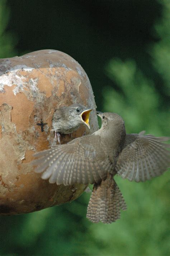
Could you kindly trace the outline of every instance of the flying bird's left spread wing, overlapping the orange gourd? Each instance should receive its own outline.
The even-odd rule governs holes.
[[[97,137],[95,143],[98,145],[100,140]],[[49,179],[50,183],[56,182],[58,185],[99,183],[101,179],[107,177],[111,163],[104,155],[100,157],[96,148],[98,147],[94,148],[91,145],[88,136],[84,136],[71,143],[38,152],[34,155],[37,159],[32,165],[38,165],[35,172],[43,173],[42,179]]]

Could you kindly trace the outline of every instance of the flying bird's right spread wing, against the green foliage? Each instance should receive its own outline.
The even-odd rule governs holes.
[[[136,182],[161,175],[170,166],[169,144],[162,143],[169,137],[127,134],[123,150],[118,157],[115,169],[122,178]]]

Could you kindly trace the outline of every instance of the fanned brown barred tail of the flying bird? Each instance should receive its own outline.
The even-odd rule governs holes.
[[[111,174],[100,184],[94,184],[90,197],[87,218],[94,223],[112,223],[121,217],[121,209],[126,210],[126,202]]]

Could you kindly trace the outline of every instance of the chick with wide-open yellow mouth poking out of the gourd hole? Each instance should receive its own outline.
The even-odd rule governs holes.
[[[55,131],[55,138],[60,143],[60,133],[69,134],[76,131],[81,124],[90,129],[89,115],[93,109],[88,109],[80,104],[62,106],[58,108],[52,117],[52,131]]]

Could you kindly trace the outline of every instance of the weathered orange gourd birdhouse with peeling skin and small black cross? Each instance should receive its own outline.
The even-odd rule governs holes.
[[[85,185],[57,186],[34,173],[33,154],[56,145],[52,116],[61,105],[96,108],[89,79],[69,55],[40,50],[0,59],[0,215],[33,212],[75,200]],[[98,129],[95,111],[90,127],[61,134],[61,143]]]

